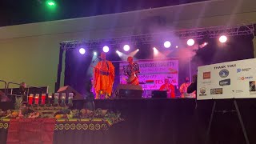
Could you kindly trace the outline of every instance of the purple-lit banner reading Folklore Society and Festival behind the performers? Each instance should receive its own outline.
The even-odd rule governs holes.
[[[165,78],[169,78],[174,86],[178,86],[178,60],[139,60],[137,61],[140,74],[138,75],[140,85],[144,90],[158,90],[164,83]],[[127,62],[120,62],[120,83],[126,83],[126,76],[123,75],[123,66]]]

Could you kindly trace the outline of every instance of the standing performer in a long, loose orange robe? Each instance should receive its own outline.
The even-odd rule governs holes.
[[[100,94],[105,94],[105,98],[110,98],[114,84],[114,66],[112,62],[106,61],[106,54],[102,52],[102,60],[94,67],[94,89],[96,99]]]

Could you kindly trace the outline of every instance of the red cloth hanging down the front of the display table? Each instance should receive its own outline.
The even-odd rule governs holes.
[[[11,119],[6,143],[52,144],[55,122],[55,119],[50,118]]]

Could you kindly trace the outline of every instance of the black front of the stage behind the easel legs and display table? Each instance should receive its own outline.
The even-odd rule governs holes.
[[[190,98],[95,100],[97,108],[118,110],[125,121],[106,131],[54,130],[54,143],[201,144],[206,139],[213,102]],[[250,143],[256,143],[256,100],[238,99],[237,102]],[[210,143],[246,143],[237,114],[232,110],[233,99],[217,101]],[[5,143],[7,130],[0,131],[0,143]]]

